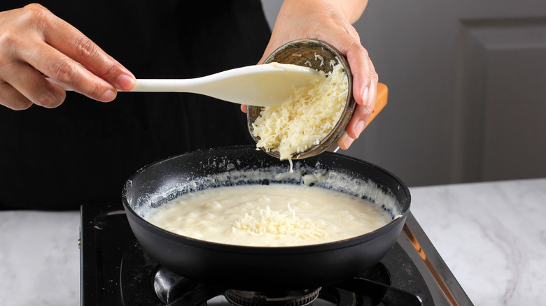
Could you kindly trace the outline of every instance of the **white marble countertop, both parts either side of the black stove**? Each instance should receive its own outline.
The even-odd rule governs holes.
[[[410,188],[412,213],[475,305],[540,305],[546,178]],[[78,305],[79,212],[0,212],[0,305]]]

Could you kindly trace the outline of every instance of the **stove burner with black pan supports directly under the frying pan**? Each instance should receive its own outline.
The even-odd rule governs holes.
[[[374,280],[366,279],[371,277]],[[423,306],[421,298],[413,293],[391,286],[384,265],[377,264],[360,277],[347,279],[332,286],[318,289],[283,292],[259,292],[227,289],[225,286],[202,284],[182,277],[168,268],[158,267],[153,277],[155,294],[162,305],[207,306],[207,301],[221,296],[233,306],[306,306],[306,305],[403,305]],[[212,304],[210,304],[212,305]]]

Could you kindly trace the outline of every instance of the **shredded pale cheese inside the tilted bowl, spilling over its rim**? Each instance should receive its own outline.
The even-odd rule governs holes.
[[[280,159],[291,158],[318,145],[334,129],[345,108],[348,79],[342,64],[335,64],[327,78],[313,87],[295,89],[281,105],[264,108],[255,119],[256,147],[279,152]]]

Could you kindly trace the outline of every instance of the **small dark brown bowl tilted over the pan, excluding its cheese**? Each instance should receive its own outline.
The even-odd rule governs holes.
[[[316,57],[316,55],[320,55],[323,59],[319,59],[318,57]],[[318,145],[314,145],[313,147],[310,147],[308,150],[300,152],[299,154],[294,154],[292,156],[292,159],[304,159],[310,156],[321,154],[322,152],[328,150],[328,148],[332,145],[335,145],[335,143],[337,143],[337,140],[341,138],[341,136],[345,132],[347,124],[349,124],[349,120],[353,116],[353,112],[356,107],[356,101],[354,100],[352,94],[353,75],[351,73],[349,63],[347,62],[343,54],[335,50],[335,48],[333,48],[331,45],[328,45],[328,43],[311,39],[302,39],[287,43],[281,48],[275,50],[264,61],[264,64],[276,62],[281,64],[294,64],[304,67],[309,67],[310,63],[311,68],[314,68],[318,71],[324,71],[325,73],[329,73],[333,69],[333,66],[330,66],[329,64],[330,60],[337,61],[338,59],[347,73],[347,78],[349,78],[347,101],[342,116],[339,118],[339,121],[334,126],[334,129],[332,129],[332,131],[330,131],[330,133],[328,133],[328,135],[323,140],[321,140]],[[321,65],[321,62],[323,62],[323,65]],[[258,140],[260,139],[256,138],[253,135],[252,124],[253,122],[255,122],[256,118],[260,117],[260,112],[262,111],[262,109],[263,108],[259,106],[247,106],[246,122],[248,124],[248,131],[250,131],[251,136],[256,143],[258,143]],[[271,156],[274,156],[276,158],[280,157],[279,152],[268,152],[263,148],[261,149]]]

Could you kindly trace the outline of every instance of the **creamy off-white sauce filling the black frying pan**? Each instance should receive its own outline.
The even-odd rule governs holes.
[[[270,184],[196,191],[152,209],[145,219],[198,240],[288,247],[353,238],[388,224],[392,217],[339,191]]]

